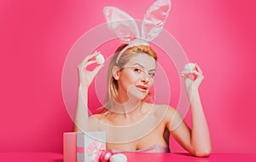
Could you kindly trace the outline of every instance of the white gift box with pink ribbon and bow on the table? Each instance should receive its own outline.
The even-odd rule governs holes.
[[[77,133],[77,162],[98,162],[104,150],[106,150],[106,133],[104,131]]]

